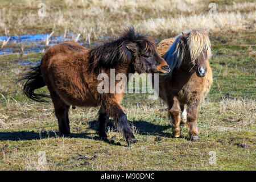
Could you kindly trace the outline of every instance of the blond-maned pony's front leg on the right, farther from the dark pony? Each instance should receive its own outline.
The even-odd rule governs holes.
[[[187,128],[190,139],[192,141],[199,140],[198,133],[197,133],[197,126],[196,126],[196,115],[197,109],[199,106],[198,101],[194,101],[188,104],[188,115],[187,115]]]

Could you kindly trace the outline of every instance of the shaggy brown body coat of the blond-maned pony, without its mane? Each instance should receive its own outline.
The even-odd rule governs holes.
[[[159,77],[159,96],[167,102],[169,106],[168,115],[171,117],[174,137],[180,136],[180,123],[187,122],[191,140],[198,140],[199,137],[197,136],[198,133],[196,127],[197,109],[203,98],[209,92],[213,80],[212,70],[210,69],[209,61],[207,59],[207,53],[210,54],[210,50],[201,50],[199,57],[197,57],[195,61],[191,60],[189,53],[191,48],[188,48],[188,39],[189,36],[192,36],[192,32],[200,35],[199,39],[201,36],[205,36],[205,38],[207,36],[205,32],[192,30],[188,34],[183,33],[177,38],[162,40],[158,44],[156,50],[160,56],[164,56],[176,39],[179,38],[180,44],[183,44],[182,49],[184,51],[184,57],[183,60],[181,60],[182,63],[180,67],[171,70],[171,75],[167,77]],[[203,43],[203,41],[201,42]],[[207,67],[207,73],[205,76],[199,77],[197,76],[196,67],[203,67],[203,65]],[[171,65],[169,66],[171,67]]]

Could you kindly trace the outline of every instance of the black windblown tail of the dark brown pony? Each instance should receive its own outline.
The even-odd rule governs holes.
[[[35,93],[35,89],[46,86],[41,74],[41,66],[32,67],[29,72],[25,73],[18,81],[23,82],[23,93],[36,102],[48,102],[43,97],[49,97],[45,94]]]

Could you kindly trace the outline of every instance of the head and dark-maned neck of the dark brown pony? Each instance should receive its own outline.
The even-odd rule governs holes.
[[[128,64],[133,72],[167,74],[166,61],[156,52],[154,40],[135,33],[134,28],[125,30],[121,37],[91,50],[94,65],[108,66]]]

